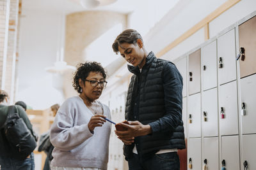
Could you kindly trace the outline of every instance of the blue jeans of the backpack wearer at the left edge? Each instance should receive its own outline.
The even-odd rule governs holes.
[[[17,160],[10,157],[0,157],[1,170],[34,170],[34,153],[29,158]]]

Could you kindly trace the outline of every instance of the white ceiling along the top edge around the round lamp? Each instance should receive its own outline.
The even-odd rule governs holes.
[[[97,8],[86,9],[81,6],[79,0],[22,0],[22,8],[26,10],[55,11],[57,13],[61,13],[63,11],[65,11],[65,13],[74,13],[84,10],[106,10],[120,13],[130,13],[135,8],[142,7],[143,3],[147,3],[147,1],[117,0],[115,3],[107,6],[98,6]]]

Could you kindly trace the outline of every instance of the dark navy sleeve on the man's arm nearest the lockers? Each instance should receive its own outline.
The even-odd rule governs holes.
[[[163,69],[164,110],[159,120],[150,123],[152,133],[173,131],[182,120],[182,76],[174,64],[168,62]]]

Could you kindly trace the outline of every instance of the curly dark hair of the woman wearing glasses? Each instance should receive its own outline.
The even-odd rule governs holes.
[[[100,72],[104,79],[107,77],[105,69],[101,66],[99,62],[85,62],[77,65],[77,71],[74,75],[73,87],[78,92],[81,93],[81,87],[79,85],[79,78],[84,82],[90,72]]]

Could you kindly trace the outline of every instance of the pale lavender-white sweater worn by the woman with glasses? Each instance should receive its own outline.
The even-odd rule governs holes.
[[[102,105],[103,114],[111,119],[108,106]],[[88,129],[92,116],[79,96],[70,97],[61,105],[50,132],[55,147],[52,166],[107,169],[111,123],[106,121],[102,127],[95,127],[92,134]]]

